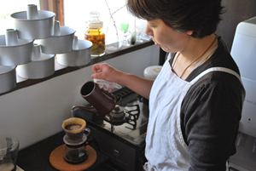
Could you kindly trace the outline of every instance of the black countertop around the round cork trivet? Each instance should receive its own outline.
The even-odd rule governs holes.
[[[28,146],[18,152],[18,158],[16,164],[25,171],[56,171],[54,167],[51,166],[49,162],[49,155],[55,150],[59,145],[63,145],[64,131],[52,135],[49,138],[42,140],[34,145]],[[95,146],[90,144],[96,150]],[[108,157],[103,155],[101,152],[97,151],[96,162],[88,169],[88,171],[97,170],[101,171],[103,169],[103,162],[105,162]]]

